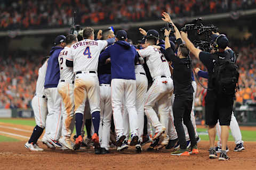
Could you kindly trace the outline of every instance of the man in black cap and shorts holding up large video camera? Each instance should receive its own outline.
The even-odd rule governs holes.
[[[215,125],[219,120],[221,125],[222,141],[222,150],[219,160],[228,160],[229,157],[227,156],[226,146],[229,136],[228,127],[230,125],[231,114],[233,110],[234,95],[228,95],[220,92],[220,88],[218,88],[216,83],[214,83],[214,68],[217,68],[216,65],[233,58],[230,54],[231,49],[229,48],[229,50],[225,50],[229,43],[228,38],[225,35],[219,35],[218,37],[215,37],[215,43],[218,45],[218,50],[217,52],[210,54],[195,48],[195,46],[188,39],[188,34],[186,32],[181,31],[181,37],[185,41],[190,52],[205,65],[209,73],[208,89],[207,95],[205,97],[205,119],[206,124],[209,125],[208,133],[210,139],[209,158],[218,158],[214,147],[214,141],[216,135]]]

